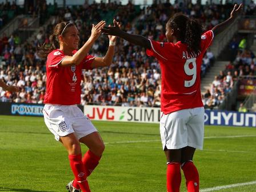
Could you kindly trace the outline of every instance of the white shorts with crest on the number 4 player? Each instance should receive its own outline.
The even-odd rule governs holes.
[[[46,126],[54,134],[57,141],[59,141],[59,137],[71,133],[80,139],[97,131],[90,119],[83,114],[77,105],[46,104],[43,107],[43,116]]]

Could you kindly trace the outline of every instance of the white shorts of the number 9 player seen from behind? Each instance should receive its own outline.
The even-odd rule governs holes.
[[[183,109],[160,119],[160,134],[163,150],[181,149],[186,146],[203,149],[205,123],[204,107]]]

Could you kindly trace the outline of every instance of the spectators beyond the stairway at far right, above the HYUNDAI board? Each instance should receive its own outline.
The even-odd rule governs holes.
[[[234,82],[239,78],[253,78],[256,75],[256,58],[251,50],[246,49],[246,38],[241,41],[236,38],[229,44],[231,61],[224,71],[215,76],[211,88],[202,94],[202,101],[206,108],[215,109],[223,102],[231,91]]]

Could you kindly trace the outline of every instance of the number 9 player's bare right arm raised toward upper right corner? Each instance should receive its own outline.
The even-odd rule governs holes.
[[[216,37],[218,34],[220,34],[222,31],[227,29],[235,21],[235,19],[238,17],[239,14],[242,12],[243,5],[240,4],[239,6],[237,4],[234,5],[233,10],[231,11],[230,18],[228,18],[226,21],[223,21],[222,23],[219,23],[215,27],[213,27],[213,34],[214,37]]]

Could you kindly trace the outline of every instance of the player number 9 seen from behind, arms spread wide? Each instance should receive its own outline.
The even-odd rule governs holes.
[[[230,18],[202,33],[202,26],[178,13],[166,23],[167,43],[152,41],[141,35],[125,33],[117,25],[103,27],[102,32],[119,36],[145,47],[161,67],[162,90],[160,133],[167,159],[167,191],[177,192],[181,169],[187,191],[199,191],[199,174],[193,163],[195,149],[203,147],[204,108],[200,90],[202,58],[213,37],[225,30],[241,13],[235,5]]]

